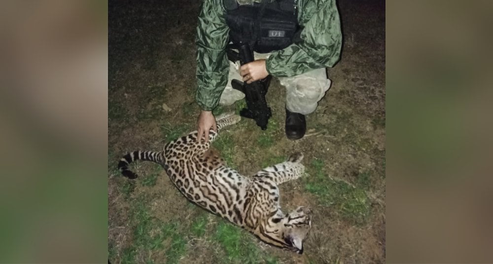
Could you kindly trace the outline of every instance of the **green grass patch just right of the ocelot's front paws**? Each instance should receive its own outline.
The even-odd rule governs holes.
[[[323,167],[322,160],[312,161],[308,166],[310,176],[305,178],[305,189],[315,194],[321,205],[334,208],[344,219],[355,224],[364,224],[370,213],[370,200],[365,190],[330,179]],[[361,182],[358,182],[362,187],[368,183],[369,175],[363,175]]]

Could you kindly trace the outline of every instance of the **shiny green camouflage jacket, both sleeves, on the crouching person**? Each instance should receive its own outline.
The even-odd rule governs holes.
[[[332,67],[339,60],[342,34],[335,0],[298,0],[301,40],[272,52],[266,61],[273,76],[293,76]],[[214,109],[228,81],[229,62],[222,0],[203,0],[197,26],[197,94],[202,110]]]

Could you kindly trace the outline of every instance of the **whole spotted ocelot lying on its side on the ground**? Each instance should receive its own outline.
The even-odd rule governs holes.
[[[216,119],[220,131],[239,122],[241,117],[225,114]],[[209,142],[199,143],[194,131],[166,144],[161,152],[130,152],[120,160],[118,168],[124,176],[135,179],[137,175],[128,169],[130,162],[140,159],[159,163],[191,202],[269,244],[302,254],[303,241],[312,226],[311,211],[300,206],[289,214],[282,213],[278,185],[303,174],[305,167],[300,163],[303,154],[293,154],[287,161],[248,178],[227,167],[222,158],[209,151],[216,137],[217,133],[211,130]]]

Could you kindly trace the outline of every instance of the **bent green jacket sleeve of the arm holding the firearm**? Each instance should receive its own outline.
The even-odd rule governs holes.
[[[267,59],[267,71],[274,76],[294,76],[332,67],[341,53],[342,33],[335,0],[302,0],[299,17],[300,40],[275,51]]]

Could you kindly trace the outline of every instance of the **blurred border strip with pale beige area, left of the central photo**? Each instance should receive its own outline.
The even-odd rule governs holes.
[[[0,39],[0,263],[106,263],[107,1],[1,1]]]

